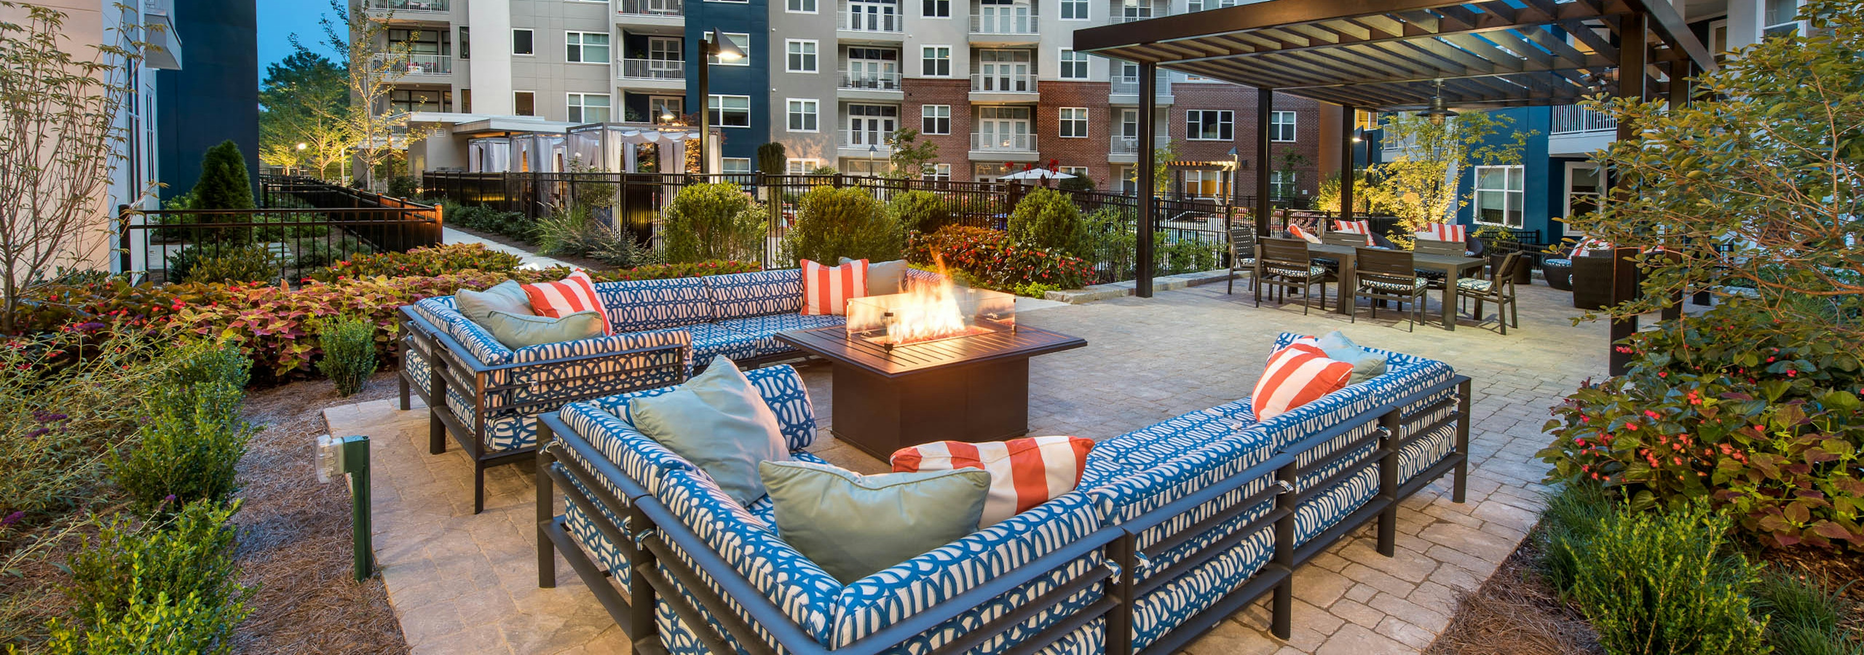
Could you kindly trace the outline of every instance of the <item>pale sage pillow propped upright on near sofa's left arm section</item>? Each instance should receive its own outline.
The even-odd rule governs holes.
[[[777,413],[727,357],[712,357],[705,372],[669,393],[634,398],[628,417],[643,435],[692,461],[740,504],[764,497],[759,463],[790,461]]]

